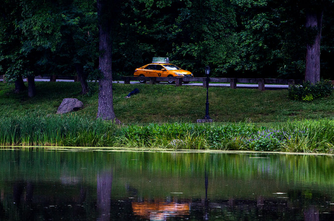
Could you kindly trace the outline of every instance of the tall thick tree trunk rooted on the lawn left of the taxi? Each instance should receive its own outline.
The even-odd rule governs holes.
[[[98,108],[97,118],[103,120],[112,120],[116,123],[120,121],[116,118],[113,97],[112,97],[112,69],[111,69],[111,26],[112,20],[107,12],[109,0],[97,0],[97,17],[98,17],[98,35],[99,35],[99,51],[101,55],[98,58],[99,70],[103,75],[103,79],[99,79],[98,92]]]

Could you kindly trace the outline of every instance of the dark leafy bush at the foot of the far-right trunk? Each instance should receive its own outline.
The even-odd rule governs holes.
[[[301,85],[294,85],[288,89],[288,96],[292,100],[313,101],[319,97],[327,97],[333,91],[332,81],[322,80],[312,85],[310,82],[303,82]]]

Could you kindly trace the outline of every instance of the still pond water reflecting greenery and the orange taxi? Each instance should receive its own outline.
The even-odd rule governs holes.
[[[334,157],[1,149],[0,220],[334,220]]]

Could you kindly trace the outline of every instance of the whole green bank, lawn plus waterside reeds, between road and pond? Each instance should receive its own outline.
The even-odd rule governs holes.
[[[91,87],[80,95],[77,83],[37,83],[38,95],[27,98],[0,83],[0,145],[334,153],[333,95],[306,103],[288,100],[286,90],[210,88],[216,123],[193,124],[205,113],[204,88],[115,84],[114,108],[125,124],[118,127],[95,119]],[[134,88],[141,92],[124,98]],[[65,97],[82,100],[84,109],[56,115]]]

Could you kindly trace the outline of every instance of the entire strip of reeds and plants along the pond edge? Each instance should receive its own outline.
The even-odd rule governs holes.
[[[334,153],[334,121],[115,126],[77,115],[0,119],[0,145],[131,147]]]

